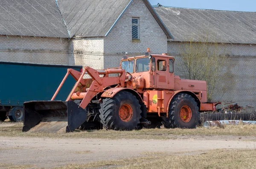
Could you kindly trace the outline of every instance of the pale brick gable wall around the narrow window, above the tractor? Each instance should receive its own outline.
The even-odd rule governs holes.
[[[139,41],[132,40],[132,17],[139,17]],[[166,53],[167,36],[143,1],[134,0],[104,38],[104,68],[119,66],[125,52],[140,55],[145,54],[147,48],[154,54]]]

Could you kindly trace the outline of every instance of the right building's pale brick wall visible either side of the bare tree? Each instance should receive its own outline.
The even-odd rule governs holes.
[[[168,53],[175,56],[175,75],[184,78],[180,51],[185,43],[168,42]],[[237,102],[256,107],[256,45],[218,44],[226,61],[215,85],[212,101]],[[254,109],[253,109],[254,111]]]

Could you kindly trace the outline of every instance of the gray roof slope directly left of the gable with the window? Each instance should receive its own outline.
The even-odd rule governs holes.
[[[58,0],[70,37],[104,37],[131,0]]]

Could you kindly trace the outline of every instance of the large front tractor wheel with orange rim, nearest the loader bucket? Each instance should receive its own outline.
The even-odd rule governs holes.
[[[105,98],[100,107],[100,122],[105,129],[132,130],[140,123],[140,103],[130,92],[120,91],[112,98]]]

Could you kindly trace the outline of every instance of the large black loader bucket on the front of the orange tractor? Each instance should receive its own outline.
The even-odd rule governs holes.
[[[87,120],[87,112],[73,101],[29,101],[23,112],[23,132],[73,132]]]

